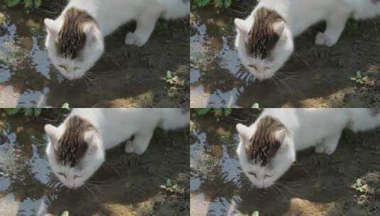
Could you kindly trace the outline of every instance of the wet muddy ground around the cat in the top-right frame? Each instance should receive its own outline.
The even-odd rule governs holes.
[[[295,40],[295,53],[273,80],[251,80],[234,49],[233,20],[256,3],[230,9],[192,8],[190,18],[191,107],[379,107],[380,18],[349,21],[337,45],[317,46],[320,23]],[[357,71],[367,80],[355,82]],[[359,79],[362,80],[362,79]]]

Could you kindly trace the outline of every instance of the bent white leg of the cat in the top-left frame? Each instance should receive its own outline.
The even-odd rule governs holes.
[[[161,11],[145,11],[137,18],[136,31],[126,34],[126,45],[142,46],[146,44],[156,26]]]

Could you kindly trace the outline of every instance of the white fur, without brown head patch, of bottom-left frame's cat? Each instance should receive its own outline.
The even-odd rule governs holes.
[[[89,149],[82,159],[82,171],[69,166],[61,166],[55,160],[54,144],[65,131],[65,122],[73,115],[89,121],[97,131],[89,131],[85,134],[85,141]],[[104,162],[105,150],[134,136],[133,141],[125,146],[126,153],[142,154],[148,148],[153,131],[157,126],[163,129],[178,129],[188,126],[189,114],[183,114],[181,109],[73,109],[67,119],[55,127],[50,124],[45,126],[49,143],[46,155],[53,170],[60,181],[68,188],[77,188],[85,183]],[[58,173],[65,173],[66,178]],[[74,178],[74,176],[82,176]]]

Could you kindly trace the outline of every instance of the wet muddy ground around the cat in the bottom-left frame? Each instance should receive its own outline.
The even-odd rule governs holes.
[[[38,121],[0,121],[0,215],[188,215],[188,129],[156,131],[142,156],[107,151],[97,186],[68,190],[53,180]]]

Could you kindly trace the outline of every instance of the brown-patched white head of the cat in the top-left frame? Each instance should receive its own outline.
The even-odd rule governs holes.
[[[83,77],[104,51],[104,39],[94,18],[85,11],[68,9],[56,20],[45,18],[48,55],[67,80]]]

